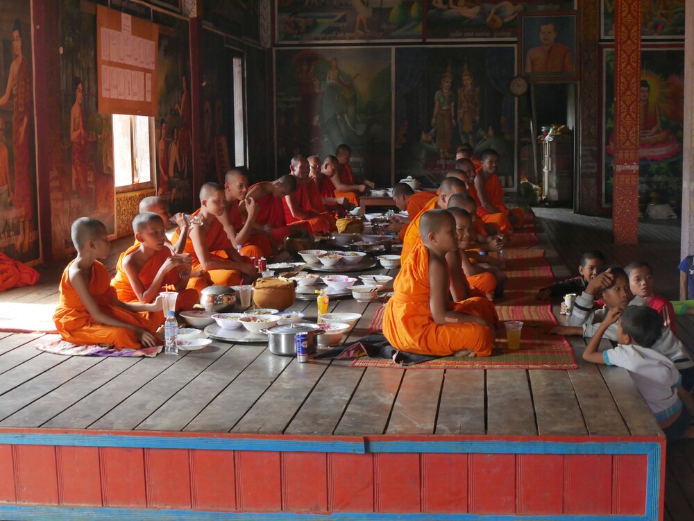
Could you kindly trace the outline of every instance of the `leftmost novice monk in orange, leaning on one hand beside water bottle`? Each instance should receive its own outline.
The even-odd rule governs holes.
[[[160,311],[161,299],[152,304],[126,304],[110,285],[108,270],[97,259],[110,250],[106,228],[96,219],[81,217],[72,223],[72,243],[77,257],[62,272],[60,302],[53,322],[60,336],[78,344],[107,343],[116,348],[151,348],[161,342],[158,324],[137,311]]]

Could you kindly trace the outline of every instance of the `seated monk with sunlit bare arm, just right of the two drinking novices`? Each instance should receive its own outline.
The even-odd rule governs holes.
[[[217,219],[226,212],[225,203],[223,187],[216,182],[206,182],[200,189],[201,207],[191,215],[202,223],[190,230],[183,251],[192,257],[192,270],[200,272],[188,282],[188,287],[198,293],[211,284],[235,286],[257,277],[251,259],[239,255]],[[177,233],[174,234],[176,239]]]

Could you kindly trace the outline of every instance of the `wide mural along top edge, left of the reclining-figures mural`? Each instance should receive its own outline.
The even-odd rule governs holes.
[[[425,0],[280,0],[277,41],[421,40]]]

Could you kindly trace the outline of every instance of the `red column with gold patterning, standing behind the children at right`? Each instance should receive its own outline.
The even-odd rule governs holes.
[[[614,191],[615,244],[638,243],[638,85],[641,79],[641,0],[615,2]]]

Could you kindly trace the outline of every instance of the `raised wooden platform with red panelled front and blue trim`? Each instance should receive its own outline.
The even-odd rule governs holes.
[[[352,339],[376,307],[337,303],[364,314]],[[1,519],[663,518],[660,429],[625,371],[580,357],[577,370],[364,369],[216,342],[69,358],[3,335]]]

